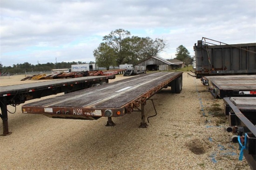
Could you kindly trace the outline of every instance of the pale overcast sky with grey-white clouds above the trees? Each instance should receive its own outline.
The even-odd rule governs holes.
[[[227,44],[256,42],[256,0],[0,0],[0,61],[95,61],[93,50],[116,29],[166,39],[159,56],[202,37]]]

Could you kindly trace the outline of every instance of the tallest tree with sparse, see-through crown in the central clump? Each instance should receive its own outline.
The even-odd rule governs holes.
[[[103,37],[103,41],[113,49],[118,65],[124,64],[124,60],[127,57],[127,52],[125,51],[127,48],[124,48],[124,46],[127,44],[126,39],[130,34],[130,32],[125,31],[124,29],[117,29]]]

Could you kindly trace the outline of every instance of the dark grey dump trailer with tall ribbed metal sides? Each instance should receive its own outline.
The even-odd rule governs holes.
[[[256,74],[256,43],[229,45],[202,37],[194,51],[195,77],[203,85],[208,85],[204,76]]]

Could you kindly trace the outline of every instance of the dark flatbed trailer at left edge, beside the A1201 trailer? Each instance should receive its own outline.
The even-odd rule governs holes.
[[[75,92],[92,86],[108,83],[111,76],[89,76],[80,78],[63,78],[51,81],[28,83],[22,85],[7,85],[0,87],[0,118],[3,121],[3,135],[10,134],[8,130],[7,105],[19,105],[27,100],[41,98],[57,93]]]

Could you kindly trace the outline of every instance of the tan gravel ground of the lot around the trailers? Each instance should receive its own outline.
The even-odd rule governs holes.
[[[1,85],[18,84],[14,79],[1,78]],[[206,87],[184,72],[180,94],[167,88],[152,97],[157,116],[145,129],[138,128],[139,112],[106,127],[107,118],[54,119],[22,114],[19,105],[8,114],[13,133],[0,136],[0,170],[250,170],[244,158],[238,161],[238,144],[229,143],[223,100]],[[145,113],[155,114],[150,100]]]

